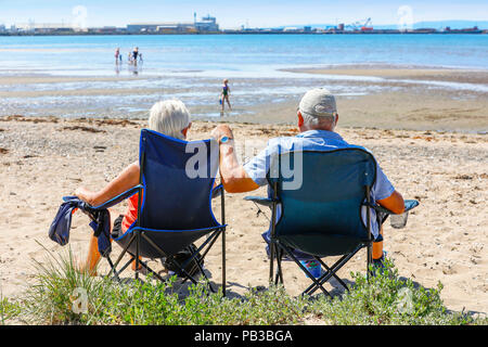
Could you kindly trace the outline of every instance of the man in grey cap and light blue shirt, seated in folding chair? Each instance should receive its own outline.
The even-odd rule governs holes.
[[[242,193],[268,184],[266,176],[270,169],[270,157],[278,151],[300,149],[324,152],[350,146],[334,131],[338,114],[335,98],[326,89],[317,88],[308,91],[299,103],[297,117],[299,134],[273,139],[268,143],[267,149],[244,166],[237,162],[232,130],[226,125],[219,125],[213,130],[213,137],[219,141],[220,145],[220,175],[226,191]],[[401,214],[404,210],[401,194],[395,190],[380,166],[377,166],[376,182],[372,188],[372,198],[395,214]],[[372,227],[374,237],[382,233],[375,218],[373,218]],[[265,240],[269,240],[269,232],[264,236]],[[383,242],[375,242],[373,261],[381,265],[383,260]]]

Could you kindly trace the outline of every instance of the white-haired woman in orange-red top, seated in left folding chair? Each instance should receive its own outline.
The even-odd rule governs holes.
[[[151,108],[149,117],[149,128],[151,130],[164,133],[172,138],[184,140],[190,127],[190,112],[179,100],[160,101],[154,104]],[[99,206],[138,184],[139,162],[134,162],[126,167],[114,180],[112,180],[103,189],[97,192],[92,192],[86,188],[80,187],[76,190],[75,195],[92,206]],[[113,231],[121,231],[121,233],[126,232],[127,229],[129,229],[132,222],[137,219],[138,194],[129,197],[128,208],[125,215],[120,215],[117,217],[115,216],[113,210],[110,210],[110,214],[111,220],[114,220],[114,224],[112,227]],[[97,237],[92,236],[88,250],[88,257],[85,265],[81,266],[81,270],[88,270],[89,273],[92,274],[95,273],[95,267],[100,260],[100,257],[101,255],[98,250]],[[134,262],[132,262],[132,269],[136,270]]]

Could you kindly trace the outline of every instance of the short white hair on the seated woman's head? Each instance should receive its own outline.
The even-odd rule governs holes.
[[[190,125],[190,112],[180,100],[156,102],[150,111],[149,127],[171,138],[184,139],[181,130]]]

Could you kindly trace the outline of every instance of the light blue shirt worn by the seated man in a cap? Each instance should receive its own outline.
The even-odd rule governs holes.
[[[278,154],[295,152],[295,151],[317,151],[326,152],[338,149],[362,149],[364,147],[352,145],[344,141],[344,139],[336,132],[326,130],[308,130],[297,134],[296,137],[275,138],[268,142],[268,145],[257,156],[252,158],[244,165],[244,170],[258,185],[267,185],[267,175],[270,170],[271,158]],[[370,151],[368,151],[370,152]],[[370,152],[371,153],[371,152]],[[389,182],[386,175],[376,164],[376,181],[371,189],[372,202],[384,200],[393,194],[395,188]],[[281,214],[281,208],[278,209],[277,218]],[[367,209],[363,208],[362,217],[365,223]],[[371,230],[373,237],[377,237],[378,223],[376,221],[376,214],[374,209],[371,209]]]

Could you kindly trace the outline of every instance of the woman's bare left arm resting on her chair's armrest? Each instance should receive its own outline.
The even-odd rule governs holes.
[[[75,195],[91,206],[99,206],[132,187],[138,185],[139,171],[139,162],[132,163],[102,190],[91,192],[88,189],[80,187],[76,190]]]

